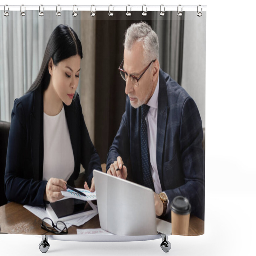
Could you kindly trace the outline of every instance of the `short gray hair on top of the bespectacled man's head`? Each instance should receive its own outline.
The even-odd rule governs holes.
[[[125,31],[124,48],[131,50],[135,42],[142,42],[145,62],[158,60],[158,37],[156,32],[146,22],[133,23]]]

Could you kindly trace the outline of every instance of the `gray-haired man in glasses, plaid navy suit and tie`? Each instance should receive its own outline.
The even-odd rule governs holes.
[[[126,82],[126,107],[107,157],[107,173],[152,188],[156,215],[171,220],[175,196],[203,213],[203,129],[188,93],[159,67],[158,37],[145,22],[125,33],[119,71]]]

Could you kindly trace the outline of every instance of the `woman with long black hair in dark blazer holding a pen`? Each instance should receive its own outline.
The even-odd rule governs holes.
[[[9,201],[55,202],[67,183],[74,186],[80,164],[86,174],[84,188],[94,191],[92,170],[101,167],[76,93],[82,58],[75,31],[59,25],[35,82],[14,101],[4,176]]]

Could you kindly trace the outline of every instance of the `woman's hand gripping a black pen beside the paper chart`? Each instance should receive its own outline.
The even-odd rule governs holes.
[[[67,182],[62,179],[50,178],[46,184],[46,188],[44,191],[44,201],[49,201],[53,203],[64,196],[62,196],[60,191],[66,191]]]

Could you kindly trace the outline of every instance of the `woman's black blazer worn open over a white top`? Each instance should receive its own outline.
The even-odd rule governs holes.
[[[82,164],[90,187],[92,170],[101,170],[101,166],[84,122],[79,95],[70,106],[63,105],[75,160],[74,172],[67,183],[74,186]],[[5,194],[9,201],[29,205],[44,204],[47,181],[42,180],[43,113],[43,92],[40,87],[14,101],[4,175]]]

